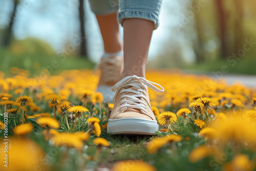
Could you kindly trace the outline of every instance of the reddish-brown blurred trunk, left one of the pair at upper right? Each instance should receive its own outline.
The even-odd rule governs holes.
[[[221,41],[221,57],[226,58],[227,54],[227,45],[226,45],[226,15],[224,10],[223,0],[216,0],[216,9],[219,19],[219,29],[220,29],[220,41]]]

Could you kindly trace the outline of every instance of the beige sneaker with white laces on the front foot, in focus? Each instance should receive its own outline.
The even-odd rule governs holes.
[[[158,93],[164,91],[159,84],[135,75],[123,78],[112,87],[115,91],[115,103],[107,127],[108,133],[154,135],[158,131],[147,87]]]

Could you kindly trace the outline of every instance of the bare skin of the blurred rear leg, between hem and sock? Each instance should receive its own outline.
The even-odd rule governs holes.
[[[122,42],[119,35],[119,24],[117,14],[96,15],[102,39],[104,51],[116,53],[122,50]]]

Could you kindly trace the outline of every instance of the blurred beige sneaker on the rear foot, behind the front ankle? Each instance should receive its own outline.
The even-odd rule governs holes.
[[[101,74],[97,92],[102,93],[106,102],[113,103],[115,93],[111,90],[111,87],[114,86],[120,78],[123,70],[123,57],[112,56],[101,58],[98,68],[101,70]]]

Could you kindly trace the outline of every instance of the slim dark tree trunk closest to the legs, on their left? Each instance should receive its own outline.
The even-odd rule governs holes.
[[[79,20],[80,20],[80,31],[81,31],[81,45],[80,45],[80,56],[87,58],[87,43],[86,43],[86,29],[84,27],[84,2],[79,0]]]

